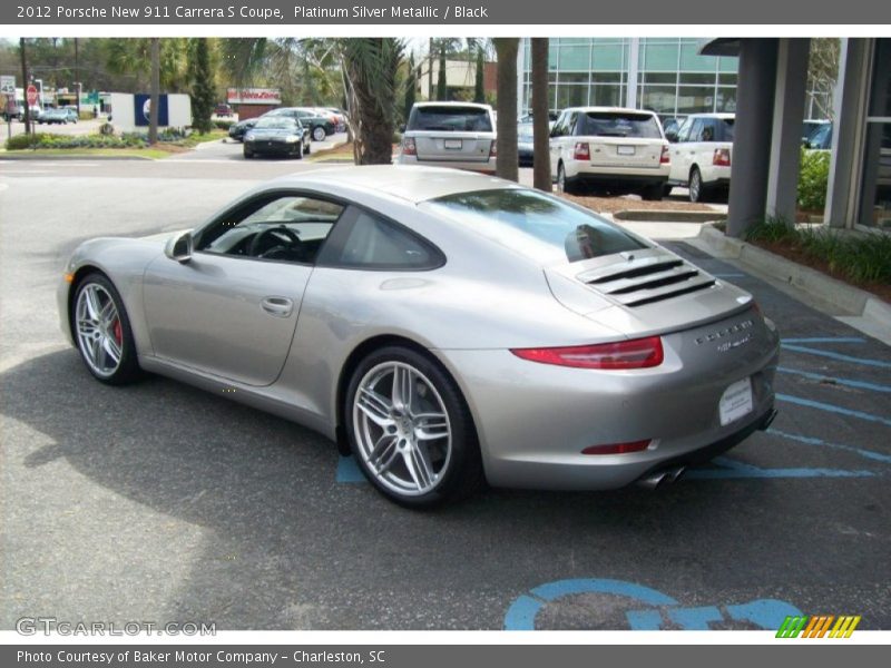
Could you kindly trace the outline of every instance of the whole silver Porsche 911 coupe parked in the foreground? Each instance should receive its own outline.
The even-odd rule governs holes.
[[[99,238],[61,325],[98,380],[164,374],[316,430],[405,505],[673,480],[773,419],[751,295],[591,212],[451,169],[260,186]]]

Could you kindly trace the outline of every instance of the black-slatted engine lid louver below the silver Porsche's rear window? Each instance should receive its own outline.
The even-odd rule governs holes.
[[[706,289],[715,279],[674,255],[628,259],[577,275],[603,295],[625,306],[643,306]]]

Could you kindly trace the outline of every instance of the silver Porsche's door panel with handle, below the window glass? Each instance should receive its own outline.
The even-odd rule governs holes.
[[[158,257],[144,301],[155,355],[248,385],[270,385],[284,365],[313,267],[196,253]]]

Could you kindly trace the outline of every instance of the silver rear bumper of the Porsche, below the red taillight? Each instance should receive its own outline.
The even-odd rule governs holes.
[[[606,490],[672,462],[714,456],[764,423],[773,410],[779,336],[763,324],[750,331],[752,340],[727,353],[692,343],[698,332],[664,335],[660,366],[624,372],[537,364],[509,351],[438,354],[462,384],[492,485]],[[752,409],[722,425],[722,396],[745,377]],[[581,454],[590,445],[644,440],[652,443],[639,452]]]

